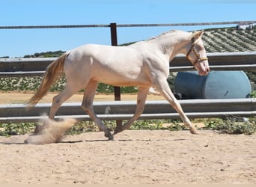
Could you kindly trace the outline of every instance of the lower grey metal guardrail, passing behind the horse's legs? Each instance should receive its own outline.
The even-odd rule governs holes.
[[[256,99],[189,99],[180,100],[190,118],[198,117],[252,117],[256,114]],[[43,113],[48,114],[51,103],[37,104],[28,110],[23,104],[0,105],[0,123],[35,122]],[[127,120],[135,112],[135,101],[94,102],[94,110],[102,120]],[[80,102],[64,103],[56,117],[75,117],[91,120]],[[179,118],[171,105],[164,100],[147,101],[139,119]]]

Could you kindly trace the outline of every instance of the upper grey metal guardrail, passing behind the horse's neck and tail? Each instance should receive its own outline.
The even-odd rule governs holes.
[[[210,70],[256,70],[256,52],[214,52],[207,54]],[[0,58],[0,77],[42,76],[56,58]],[[170,71],[194,70],[183,55],[170,63]]]

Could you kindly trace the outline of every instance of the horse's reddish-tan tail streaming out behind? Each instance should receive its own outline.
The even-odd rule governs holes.
[[[46,68],[46,73],[43,75],[43,80],[37,92],[34,93],[34,96],[28,100],[28,107],[32,107],[46,95],[47,91],[64,73],[64,61],[67,56],[67,53],[61,55],[60,58],[53,61]]]

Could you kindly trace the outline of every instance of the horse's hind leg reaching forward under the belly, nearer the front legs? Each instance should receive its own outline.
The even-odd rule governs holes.
[[[114,138],[113,135],[111,134],[109,129],[104,125],[103,121],[100,120],[100,118],[97,117],[97,115],[94,112],[93,102],[94,102],[94,96],[96,93],[97,85],[98,85],[98,82],[96,81],[91,80],[90,82],[88,82],[88,85],[85,87],[85,91],[84,91],[82,108],[91,117],[91,119],[94,120],[94,123],[96,123],[97,126],[99,126],[99,128],[103,130],[103,132],[105,132],[105,136],[110,140],[112,140]]]

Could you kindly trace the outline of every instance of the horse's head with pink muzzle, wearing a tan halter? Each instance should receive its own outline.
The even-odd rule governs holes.
[[[188,52],[186,53],[186,58],[191,61],[201,76],[207,75],[210,71],[204,43],[201,39],[203,33],[204,31],[196,31],[192,34],[191,43],[189,43]]]

